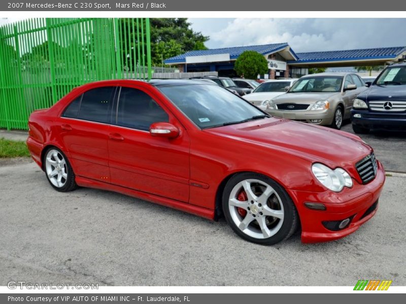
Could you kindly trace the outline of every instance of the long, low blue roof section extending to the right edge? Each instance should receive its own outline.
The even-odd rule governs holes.
[[[390,59],[396,58],[403,52],[406,52],[406,47],[297,53],[299,59],[296,61],[288,61],[288,63],[311,63],[320,61],[347,61],[386,58]]]

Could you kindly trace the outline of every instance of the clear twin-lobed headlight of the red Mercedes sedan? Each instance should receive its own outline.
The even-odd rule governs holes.
[[[331,191],[340,192],[345,186],[352,187],[351,176],[342,168],[331,170],[323,164],[316,163],[313,164],[312,171],[317,180]]]

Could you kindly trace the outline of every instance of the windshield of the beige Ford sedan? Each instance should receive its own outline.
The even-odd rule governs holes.
[[[340,92],[342,76],[314,76],[299,79],[288,93]]]

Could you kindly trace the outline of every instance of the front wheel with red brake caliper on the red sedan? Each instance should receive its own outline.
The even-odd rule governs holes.
[[[249,242],[273,245],[288,239],[298,227],[296,208],[285,189],[262,174],[231,177],[222,207],[231,229]]]

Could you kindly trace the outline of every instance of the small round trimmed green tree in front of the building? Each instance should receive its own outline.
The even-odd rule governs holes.
[[[235,60],[234,70],[245,78],[257,79],[258,74],[268,72],[268,61],[258,52],[245,51]]]

